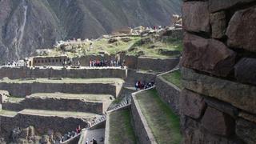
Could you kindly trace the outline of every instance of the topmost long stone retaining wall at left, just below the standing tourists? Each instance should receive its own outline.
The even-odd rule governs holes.
[[[0,78],[126,78],[121,69],[44,69],[28,67],[0,68]]]

